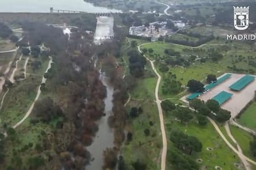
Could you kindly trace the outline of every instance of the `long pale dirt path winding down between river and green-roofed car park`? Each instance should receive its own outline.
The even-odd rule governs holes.
[[[148,43],[145,43],[145,44],[152,44],[152,43],[153,42],[148,42]],[[140,47],[144,46],[145,44],[141,44],[140,46],[138,46],[139,52],[142,52],[140,50]],[[159,113],[160,124],[161,124],[161,134],[162,134],[162,140],[163,140],[163,150],[162,150],[162,153],[161,153],[161,170],[165,170],[166,153],[167,153],[167,140],[166,140],[166,132],[165,132],[165,129],[164,129],[163,110],[162,110],[162,107],[161,107],[161,100],[158,97],[158,91],[159,91],[159,86],[160,86],[160,82],[161,82],[161,76],[156,71],[154,61],[148,59],[148,57],[146,55],[144,55],[144,57],[150,62],[152,70],[154,70],[155,74],[158,76],[157,83],[156,83],[156,88],[155,88],[155,99],[156,99],[156,105],[158,107],[158,113]]]

